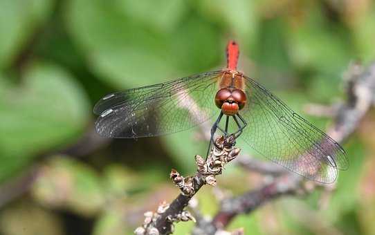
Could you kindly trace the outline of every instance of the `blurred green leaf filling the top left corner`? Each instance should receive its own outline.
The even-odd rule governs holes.
[[[0,68],[9,66],[19,50],[49,17],[53,0],[0,1]]]

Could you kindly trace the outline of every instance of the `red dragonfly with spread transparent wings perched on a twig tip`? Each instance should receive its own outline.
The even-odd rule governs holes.
[[[227,134],[234,126],[235,138],[260,156],[309,180],[334,182],[338,170],[349,167],[340,144],[237,71],[235,41],[228,42],[226,57],[222,70],[105,95],[93,109],[99,115],[95,131],[106,138],[142,138],[214,120],[210,144],[218,129]]]

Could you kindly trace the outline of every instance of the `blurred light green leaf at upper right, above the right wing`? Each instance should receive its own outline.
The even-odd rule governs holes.
[[[351,59],[349,32],[330,23],[319,7],[309,8],[297,26],[289,27],[289,54],[295,66],[336,74]]]

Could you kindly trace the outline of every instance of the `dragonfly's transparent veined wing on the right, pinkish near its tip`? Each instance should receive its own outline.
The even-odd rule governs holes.
[[[260,155],[318,182],[336,180],[349,162],[340,145],[304,120],[250,77],[244,77],[248,104],[239,113],[248,126],[241,138]]]

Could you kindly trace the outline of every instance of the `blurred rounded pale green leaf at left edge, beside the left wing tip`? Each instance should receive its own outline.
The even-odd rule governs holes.
[[[0,75],[0,181],[37,153],[61,146],[84,129],[89,104],[62,68],[33,64],[20,86]]]

